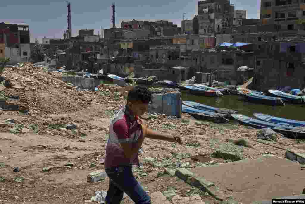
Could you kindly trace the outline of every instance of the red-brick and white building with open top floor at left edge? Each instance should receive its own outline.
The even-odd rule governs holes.
[[[15,64],[29,61],[30,53],[29,25],[0,23],[0,55]]]

